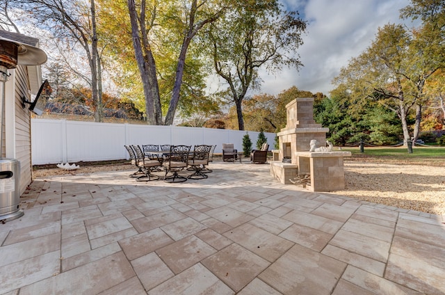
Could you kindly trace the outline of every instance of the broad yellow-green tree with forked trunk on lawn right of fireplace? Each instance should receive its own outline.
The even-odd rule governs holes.
[[[419,135],[421,108],[426,102],[423,86],[442,66],[426,53],[430,47],[419,32],[423,31],[409,32],[396,24],[383,26],[372,45],[334,79],[338,86],[348,88],[355,102],[370,99],[394,111],[401,120],[405,143]],[[407,118],[413,109],[416,122],[411,134]]]

